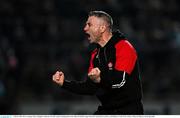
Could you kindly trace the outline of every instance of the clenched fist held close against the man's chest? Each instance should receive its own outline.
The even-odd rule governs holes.
[[[95,83],[100,83],[101,78],[100,78],[100,73],[101,71],[99,68],[93,68],[89,73],[88,77]]]

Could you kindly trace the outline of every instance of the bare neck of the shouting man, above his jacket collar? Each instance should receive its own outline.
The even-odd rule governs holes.
[[[111,32],[108,32],[108,33],[104,33],[100,39],[100,41],[98,42],[98,44],[101,46],[101,47],[104,47],[107,42],[111,39],[112,37],[112,33]]]

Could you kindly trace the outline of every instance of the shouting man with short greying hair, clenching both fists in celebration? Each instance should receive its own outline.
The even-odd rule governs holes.
[[[77,94],[96,95],[101,106],[94,114],[143,114],[137,53],[122,33],[112,32],[113,20],[103,11],[91,11],[84,27],[92,52],[85,81],[67,81],[57,71],[53,81]]]

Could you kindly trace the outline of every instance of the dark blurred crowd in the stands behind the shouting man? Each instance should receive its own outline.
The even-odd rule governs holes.
[[[91,10],[111,14],[136,47],[144,99],[180,97],[180,1],[0,0],[0,113],[18,113],[22,101],[79,99],[51,76],[61,69],[67,79],[86,77]]]

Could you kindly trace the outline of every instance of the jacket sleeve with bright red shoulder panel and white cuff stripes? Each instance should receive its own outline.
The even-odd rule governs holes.
[[[110,88],[120,88],[125,85],[127,82],[126,79],[131,75],[131,72],[134,70],[137,54],[133,46],[126,40],[119,42],[115,45],[115,65],[113,70],[108,71],[108,77],[105,77],[106,74],[102,74],[102,78],[107,78],[107,81],[104,83],[109,83],[108,87]]]

